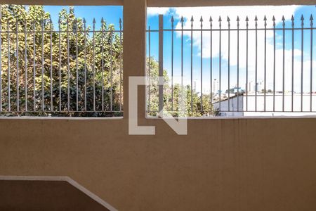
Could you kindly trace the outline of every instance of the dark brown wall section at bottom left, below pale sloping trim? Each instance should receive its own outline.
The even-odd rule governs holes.
[[[68,181],[1,180],[0,210],[109,210]]]

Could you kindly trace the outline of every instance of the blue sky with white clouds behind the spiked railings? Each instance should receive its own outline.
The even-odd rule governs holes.
[[[59,11],[63,6],[45,6],[45,10],[51,13],[53,22],[57,23]],[[67,8],[67,7],[66,7]],[[92,25],[93,18],[96,18],[97,25],[100,27],[101,18],[105,18],[107,23],[113,23],[117,28],[119,26],[119,18],[123,16],[123,7],[121,6],[75,6],[74,11],[77,17],[86,18],[87,24]],[[316,17],[315,6],[234,6],[234,7],[201,7],[201,8],[148,8],[147,9],[147,27],[151,30],[158,29],[158,15],[164,15],[164,28],[171,29],[171,16],[175,22],[175,29],[180,29],[180,18],[184,18],[184,29],[190,29],[190,19],[193,16],[193,28],[200,29],[200,18],[203,18],[203,28],[209,29],[209,17],[213,19],[213,29],[218,29],[218,18],[222,18],[222,29],[227,29],[227,17],[230,17],[230,28],[237,28],[237,15],[239,15],[239,27],[244,29],[246,16],[249,17],[249,28],[254,28],[255,15],[258,17],[258,28],[264,27],[264,15],[267,18],[267,27],[272,27],[272,16],[275,15],[276,27],[282,27],[282,15],[284,15],[285,27],[291,27],[291,15],[294,15],[295,27],[301,27],[301,15],[304,15],[304,26],[310,27],[310,15]],[[218,79],[219,74],[219,56],[221,58],[221,89],[225,91],[228,89],[228,56],[230,56],[230,87],[237,84],[237,32],[230,32],[230,54],[228,54],[228,32],[221,32],[221,53],[219,55],[219,32],[213,31],[212,34],[212,77]],[[256,70],[256,38],[254,31],[249,32],[249,82],[255,81]],[[258,82],[264,79],[264,31],[259,30],[257,34],[258,49],[257,49],[257,72]],[[301,30],[294,32],[294,91],[301,92],[301,54],[303,52],[303,91],[310,90],[310,61],[316,67],[316,32],[313,33],[312,45],[313,56],[310,60],[310,30],[305,30],[303,35],[303,51],[301,49]],[[147,33],[148,38],[148,33]],[[150,33],[150,55],[158,58],[158,33]],[[181,36],[180,32],[174,32],[174,49],[173,49],[173,75],[180,76],[181,58],[180,46]],[[148,39],[147,39],[148,40]],[[282,30],[276,32],[276,90],[282,91],[282,72],[283,72],[283,34]],[[210,91],[210,44],[211,36],[209,31],[202,34],[203,47],[201,48],[201,32],[193,32],[192,34],[192,69],[193,81],[196,82],[197,91],[200,91],[201,82],[201,49],[202,49],[202,90],[204,93]],[[291,91],[291,31],[285,32],[284,38],[284,89]],[[245,89],[246,83],[246,32],[239,32],[239,87]],[[273,89],[273,32],[267,31],[266,41],[266,72],[267,72],[267,89]],[[147,42],[147,56],[149,55]],[[315,52],[315,53],[314,53]],[[190,70],[191,70],[191,34],[190,32],[183,33],[183,75],[185,82],[190,84]],[[171,32],[164,32],[164,69],[171,75]],[[313,75],[316,77],[315,68],[312,69]],[[316,79],[313,82],[313,91],[316,91]]]

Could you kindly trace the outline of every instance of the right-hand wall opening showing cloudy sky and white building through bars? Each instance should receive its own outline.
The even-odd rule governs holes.
[[[164,110],[187,117],[315,114],[315,6],[148,8],[147,14],[147,75],[158,76],[163,60]],[[178,106],[181,90],[185,111]],[[147,113],[157,116],[159,89],[148,93]]]

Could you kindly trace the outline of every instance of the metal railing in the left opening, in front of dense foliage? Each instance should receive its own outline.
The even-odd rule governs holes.
[[[0,21],[0,115],[122,115],[123,30],[93,19]]]

